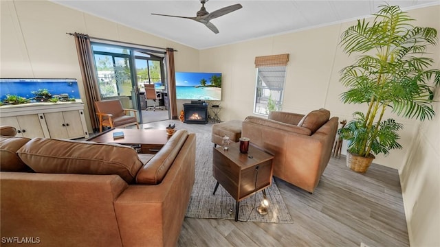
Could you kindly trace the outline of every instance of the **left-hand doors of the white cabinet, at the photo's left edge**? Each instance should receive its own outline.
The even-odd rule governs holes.
[[[17,137],[45,137],[38,114],[17,117],[1,117],[2,126],[13,126],[17,129]]]

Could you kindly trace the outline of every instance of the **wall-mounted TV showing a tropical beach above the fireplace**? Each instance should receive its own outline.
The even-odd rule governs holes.
[[[221,100],[221,73],[176,72],[176,98]]]

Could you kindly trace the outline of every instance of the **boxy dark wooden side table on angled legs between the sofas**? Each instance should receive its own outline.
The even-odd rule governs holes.
[[[235,221],[239,220],[240,201],[271,185],[274,158],[252,143],[248,154],[241,154],[239,145],[229,145],[228,151],[217,147],[212,154],[212,176],[217,180],[212,194],[220,184],[236,200]]]

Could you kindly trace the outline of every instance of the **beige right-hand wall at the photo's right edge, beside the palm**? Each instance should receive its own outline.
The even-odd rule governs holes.
[[[440,5],[429,10],[414,10],[411,17],[440,32]],[[439,69],[440,45],[431,52]],[[434,119],[417,125],[399,170],[411,246],[440,246],[440,88],[434,101]]]

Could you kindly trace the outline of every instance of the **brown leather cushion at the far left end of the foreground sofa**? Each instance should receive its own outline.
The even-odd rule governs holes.
[[[25,137],[0,137],[0,170],[1,172],[23,172],[30,168],[16,154],[25,143]]]

